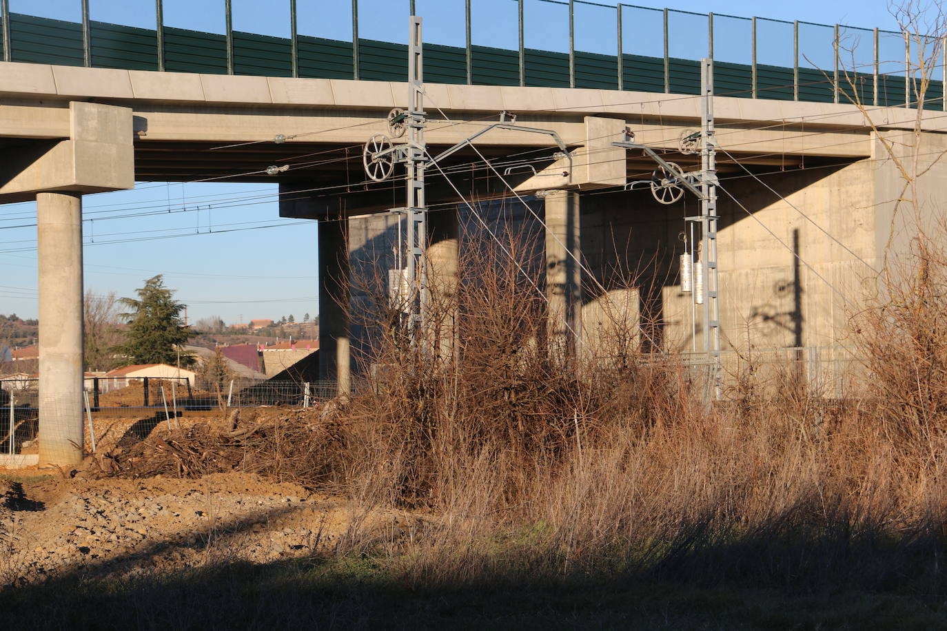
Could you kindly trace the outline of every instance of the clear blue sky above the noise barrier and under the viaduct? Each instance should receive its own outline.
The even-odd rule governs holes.
[[[154,26],[153,0],[89,0],[93,20],[128,26]],[[289,0],[232,0],[233,27],[288,36]],[[600,4],[615,5],[602,0]],[[646,3],[643,3],[646,4]],[[300,33],[332,39],[351,36],[351,3],[345,0],[297,0]],[[655,9],[664,5],[649,5]],[[42,17],[80,20],[80,0],[9,0],[10,10]],[[417,0],[424,17],[425,41],[462,45],[464,0]],[[897,29],[884,0],[835,0],[827,3],[759,3],[747,0],[678,0],[670,9],[706,13],[715,18],[715,57],[749,58],[749,21],[721,14],[818,24]],[[660,55],[659,11],[625,7],[624,51]],[[359,34],[366,39],[404,42],[407,0],[360,0]],[[473,0],[474,44],[517,46],[514,0]],[[547,50],[568,46],[567,9],[561,4],[527,0],[526,44]],[[576,47],[613,53],[615,9],[577,5]],[[164,0],[165,24],[222,33],[223,0]],[[394,25],[394,26],[392,26]],[[759,61],[792,63],[792,27],[759,22]],[[831,55],[831,29],[804,26],[802,49],[813,61]],[[706,17],[672,13],[670,53],[697,59],[706,51]],[[867,48],[870,48],[866,39]],[[891,44],[896,44],[892,39]],[[883,57],[887,44],[882,43]],[[810,51],[807,53],[807,50]],[[892,48],[892,57],[897,58]],[[883,69],[884,71],[884,69]],[[316,232],[314,222],[278,219],[275,186],[265,184],[141,183],[132,191],[84,198],[85,287],[97,293],[132,295],[144,279],[164,273],[169,287],[188,303],[191,320],[220,315],[234,323],[317,311]],[[135,215],[134,218],[121,216]],[[33,203],[0,205],[0,313],[36,317],[36,229]],[[116,219],[117,218],[117,219]],[[259,226],[264,229],[246,230]],[[148,232],[146,232],[148,231]],[[229,232],[227,232],[229,231]],[[152,238],[141,237],[169,237]],[[112,241],[107,243],[107,241]]]

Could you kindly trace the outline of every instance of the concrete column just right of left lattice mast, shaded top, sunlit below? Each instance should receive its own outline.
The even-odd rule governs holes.
[[[456,207],[428,213],[426,256],[432,298],[429,315],[434,319],[430,324],[440,359],[453,354],[456,339],[457,236]]]

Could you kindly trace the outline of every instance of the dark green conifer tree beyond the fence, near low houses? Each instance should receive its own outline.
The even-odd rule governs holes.
[[[136,289],[137,300],[121,298],[118,302],[129,308],[121,316],[128,321],[125,342],[116,346],[116,352],[125,357],[125,364],[167,363],[178,359],[182,366],[194,364],[194,358],[180,351],[180,346],[191,337],[184,325],[181,311],[185,305],[173,299],[174,291],[165,287],[161,274],[145,281],[145,287]]]

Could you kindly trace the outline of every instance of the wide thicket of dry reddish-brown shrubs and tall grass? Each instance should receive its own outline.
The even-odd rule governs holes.
[[[361,358],[372,377],[342,412],[367,421],[348,436],[351,497],[436,516],[402,549],[406,580],[620,570],[807,589],[943,587],[940,434],[894,440],[901,408],[879,414],[866,393],[826,401],[795,365],[776,372],[775,395],[750,375],[739,400],[709,406],[702,379],[673,356],[627,344],[620,360],[571,352],[521,270],[529,244],[505,246],[465,254],[456,287],[432,284],[418,344],[388,304],[374,329],[384,334]],[[881,367],[897,347],[869,350]]]

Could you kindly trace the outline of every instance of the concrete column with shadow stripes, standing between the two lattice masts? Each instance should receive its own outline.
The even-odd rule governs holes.
[[[581,341],[579,217],[577,191],[546,193],[545,283],[549,301],[549,345],[566,354],[575,353]]]

